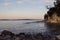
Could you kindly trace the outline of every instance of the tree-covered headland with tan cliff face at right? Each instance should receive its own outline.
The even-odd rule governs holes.
[[[60,23],[60,0],[54,2],[54,7],[48,8],[44,20],[50,23]]]

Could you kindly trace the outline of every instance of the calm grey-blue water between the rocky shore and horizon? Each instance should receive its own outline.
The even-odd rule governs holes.
[[[60,25],[36,21],[38,20],[0,21],[0,32],[9,30],[13,33],[60,34]]]

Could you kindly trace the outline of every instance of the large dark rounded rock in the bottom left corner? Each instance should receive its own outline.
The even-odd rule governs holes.
[[[0,35],[0,39],[1,40],[13,40],[14,36],[15,36],[14,33],[10,32],[10,31],[7,31],[7,30],[4,30],[4,31],[2,31],[2,33]]]

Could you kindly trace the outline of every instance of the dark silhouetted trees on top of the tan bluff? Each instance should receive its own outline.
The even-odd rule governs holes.
[[[56,13],[57,16],[60,17],[60,0],[55,0],[55,1],[56,1],[56,2],[54,2],[54,7],[49,8],[49,7],[47,6],[47,9],[49,9],[49,10],[47,11],[47,15],[48,15],[49,17],[51,17],[54,13]],[[45,16],[44,16],[44,19],[45,19],[45,17],[46,17],[46,14],[45,14]]]

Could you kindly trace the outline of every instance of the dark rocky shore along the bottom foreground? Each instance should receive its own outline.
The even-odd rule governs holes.
[[[60,36],[52,36],[52,35],[43,35],[41,33],[38,34],[25,34],[19,33],[14,34],[10,31],[4,30],[0,34],[0,40],[60,40]]]

